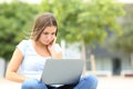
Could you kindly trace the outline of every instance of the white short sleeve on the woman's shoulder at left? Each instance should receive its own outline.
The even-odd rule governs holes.
[[[25,53],[25,49],[28,47],[28,40],[22,40],[17,48],[22,52],[22,55],[24,56]]]

